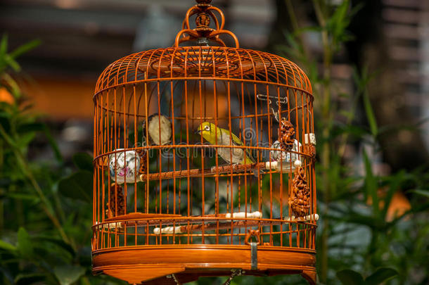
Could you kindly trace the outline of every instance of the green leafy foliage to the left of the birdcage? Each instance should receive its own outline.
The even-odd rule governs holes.
[[[70,179],[70,168],[13,79],[20,71],[15,58],[37,44],[8,52],[7,37],[0,42],[0,89],[13,99],[0,102],[0,284],[117,284],[91,274],[91,191],[78,186],[58,191],[64,188],[61,179]],[[38,137],[51,145],[53,159],[30,163]],[[91,160],[85,153],[74,159],[90,179]],[[79,182],[83,187],[88,181]]]

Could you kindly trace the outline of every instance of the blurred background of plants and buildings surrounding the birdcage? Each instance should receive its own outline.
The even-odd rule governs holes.
[[[172,46],[194,3],[0,2],[0,33],[4,39],[7,35],[0,54],[13,58],[0,58],[1,122],[7,125],[3,131],[28,122],[41,124],[30,128],[27,137],[19,128],[15,137],[2,131],[0,238],[10,246],[1,243],[0,254],[3,260],[20,256],[28,264],[0,262],[0,283],[116,282],[91,277],[91,205],[61,196],[58,185],[82,168],[75,153],[92,151],[91,98],[98,75],[129,53]],[[312,81],[320,141],[321,283],[340,284],[339,270],[368,277],[389,267],[397,271],[389,281],[392,284],[429,284],[429,1],[214,0],[212,4],[224,11],[226,29],[237,35],[241,47],[285,56]],[[19,58],[7,53],[35,39],[39,44]],[[10,138],[18,140],[20,150],[13,150]],[[15,169],[16,165],[24,166]],[[48,222],[45,215],[26,212],[34,205],[44,209]],[[76,207],[89,213],[77,214]],[[87,234],[78,233],[82,230]],[[32,262],[39,256],[35,249],[31,255],[25,253],[28,248],[20,250],[27,239],[49,234],[64,243],[63,251],[70,251],[70,256],[57,257],[64,263],[62,268],[49,267],[51,259],[46,265]],[[76,272],[77,278],[65,281],[64,272]],[[243,284],[303,282],[300,277],[240,278]],[[221,284],[220,279],[200,282]]]

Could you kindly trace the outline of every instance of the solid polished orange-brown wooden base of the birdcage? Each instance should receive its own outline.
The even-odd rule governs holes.
[[[130,284],[175,284],[198,277],[228,276],[231,269],[246,275],[302,274],[316,284],[316,251],[304,248],[257,247],[257,270],[251,270],[250,246],[160,245],[127,246],[93,251],[93,273]]]

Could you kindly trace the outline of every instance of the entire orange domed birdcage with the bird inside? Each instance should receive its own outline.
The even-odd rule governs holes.
[[[313,96],[297,65],[239,48],[199,0],[174,46],[103,71],[94,107],[94,273],[315,284]]]

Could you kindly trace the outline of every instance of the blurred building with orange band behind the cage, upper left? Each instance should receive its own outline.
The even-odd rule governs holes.
[[[4,0],[0,32],[13,49],[41,45],[18,61],[20,84],[47,115],[65,157],[90,151],[94,87],[104,68],[136,51],[172,46],[194,0]],[[270,0],[214,0],[241,46],[264,49],[274,20]],[[46,153],[44,154],[46,157]]]

